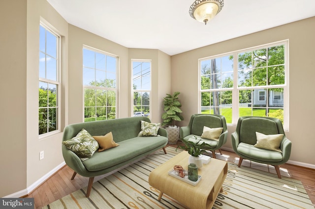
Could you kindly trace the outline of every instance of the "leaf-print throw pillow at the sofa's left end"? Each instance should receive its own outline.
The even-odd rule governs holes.
[[[63,144],[80,157],[82,161],[92,157],[98,149],[97,141],[85,129],[82,129],[72,139],[63,141]]]

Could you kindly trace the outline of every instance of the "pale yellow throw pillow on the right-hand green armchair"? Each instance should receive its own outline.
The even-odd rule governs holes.
[[[265,135],[263,133],[256,132],[257,142],[254,147],[281,152],[280,143],[283,137],[284,134],[282,133]]]

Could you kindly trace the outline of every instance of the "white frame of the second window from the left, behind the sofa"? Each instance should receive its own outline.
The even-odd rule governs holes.
[[[84,101],[84,96],[85,96],[84,95],[85,94],[84,89],[85,88],[90,88],[90,89],[95,89],[95,90],[99,89],[99,90],[115,91],[116,92],[115,116],[116,116],[116,118],[118,118],[117,114],[118,114],[118,97],[119,97],[119,95],[118,95],[118,93],[119,93],[119,91],[118,91],[118,86],[119,86],[119,77],[118,77],[118,75],[119,75],[119,73],[118,73],[118,71],[119,71],[119,66],[118,66],[119,57],[117,55],[115,55],[115,54],[112,54],[112,53],[109,53],[109,52],[104,52],[102,50],[99,50],[99,49],[96,49],[94,47],[90,47],[90,46],[87,46],[87,45],[83,45],[83,48],[82,48],[82,79],[83,79],[83,69],[84,69],[84,65],[83,65],[83,58],[84,58],[83,57],[83,50],[84,49],[90,50],[90,51],[93,51],[93,52],[96,52],[96,53],[101,53],[101,54],[104,54],[106,56],[111,56],[111,57],[116,58],[116,88],[83,85],[83,95],[82,95],[83,96],[83,119],[82,119],[82,121],[85,122],[85,111],[84,111],[85,110],[85,101]],[[96,70],[96,66],[95,66],[95,70]],[[96,74],[95,74],[95,80],[96,80]],[[95,103],[95,107],[97,107],[96,103]],[[106,120],[108,120],[108,119],[106,119]]]

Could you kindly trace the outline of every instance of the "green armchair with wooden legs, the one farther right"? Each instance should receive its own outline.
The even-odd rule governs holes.
[[[265,135],[283,134],[280,138],[280,151],[257,148],[256,132]],[[279,165],[288,161],[291,154],[291,141],[285,137],[284,129],[278,118],[270,117],[240,117],[236,131],[231,135],[234,152],[240,156],[238,167],[243,159],[275,166],[278,178],[281,179]],[[268,140],[270,141],[270,140]],[[267,144],[267,146],[269,146]]]

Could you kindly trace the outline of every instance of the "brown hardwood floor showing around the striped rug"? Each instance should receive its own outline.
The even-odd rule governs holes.
[[[177,147],[177,145],[168,146]],[[234,162],[235,157],[238,157],[234,152],[225,150],[222,150],[222,154],[229,156],[227,160],[228,162]],[[292,176],[291,178],[300,180],[303,183],[304,188],[315,207],[315,169],[291,164],[284,164],[280,167],[287,169]],[[49,203],[88,185],[89,178],[77,174],[74,180],[71,181],[70,178],[72,174],[73,171],[68,166],[64,166],[26,197],[34,198],[35,208],[41,209]],[[98,181],[103,177],[104,176],[95,177],[95,181]]]

